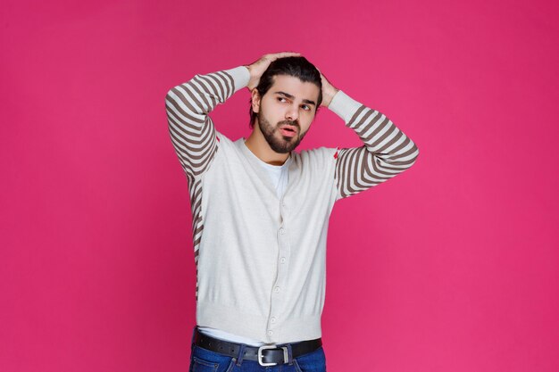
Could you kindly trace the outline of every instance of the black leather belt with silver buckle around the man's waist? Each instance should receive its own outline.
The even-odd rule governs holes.
[[[229,341],[214,338],[209,335],[202,334],[198,327],[195,327],[194,344],[206,350],[219,352],[220,354],[229,355],[230,357],[238,357],[241,343],[231,343]],[[251,346],[245,345],[245,354],[243,359],[257,360],[261,366],[275,366],[276,364],[285,364],[289,362],[288,343],[280,343],[278,345]],[[315,351],[322,345],[322,339],[306,340],[298,343],[291,343],[291,356],[297,358],[308,352]]]

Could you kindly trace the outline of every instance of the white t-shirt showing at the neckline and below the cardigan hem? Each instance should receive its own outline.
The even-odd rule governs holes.
[[[280,200],[286,190],[286,187],[288,186],[288,166],[290,161],[291,156],[289,156],[288,160],[285,161],[282,165],[271,165],[265,161],[260,161],[263,169],[266,169],[268,171],[268,175],[271,179],[271,184],[276,187],[276,194],[278,194],[278,199]],[[233,343],[246,343],[247,345],[252,346],[262,346],[266,344],[258,340],[253,340],[251,338],[233,335],[229,332],[224,332],[213,327],[198,327],[198,329],[204,335],[209,335]]]

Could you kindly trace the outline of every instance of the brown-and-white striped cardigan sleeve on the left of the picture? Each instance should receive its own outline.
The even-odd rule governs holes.
[[[209,112],[246,87],[249,79],[248,69],[238,66],[195,75],[167,93],[165,107],[171,142],[189,183],[204,174],[219,147]]]

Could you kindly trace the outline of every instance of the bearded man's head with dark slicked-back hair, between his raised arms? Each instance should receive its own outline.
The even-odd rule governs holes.
[[[301,142],[322,102],[321,73],[305,57],[270,63],[253,90],[250,127],[262,132],[276,153],[289,153]]]

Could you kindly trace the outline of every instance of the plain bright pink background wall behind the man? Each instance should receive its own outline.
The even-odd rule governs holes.
[[[559,370],[558,16],[542,0],[4,1],[0,369],[188,370],[191,215],[164,95],[296,51],[421,152],[334,208],[329,371]],[[212,114],[232,139],[248,99]],[[325,109],[300,149],[319,145],[360,142]]]

